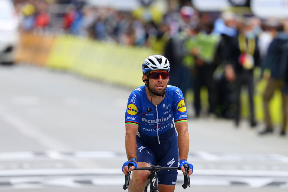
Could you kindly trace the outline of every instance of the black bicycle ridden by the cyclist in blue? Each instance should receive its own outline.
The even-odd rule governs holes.
[[[132,167],[133,164],[128,164],[128,169]],[[189,168],[187,164],[183,165],[185,168],[185,171],[187,174],[184,175],[184,183],[182,184],[183,189],[187,188],[187,185],[190,187],[190,176],[188,176],[189,173]],[[137,167],[137,169],[134,169],[132,171],[137,171],[137,170],[148,170],[150,171],[149,175],[149,180],[150,182],[147,183],[144,192],[147,192],[147,188],[150,184],[150,192],[159,192],[158,191],[158,185],[157,185],[157,173],[162,170],[181,170],[180,167],[161,167],[161,166],[151,166],[151,167]],[[127,176],[125,175],[125,184],[123,185],[123,189],[128,189],[129,186],[129,181],[130,181],[130,174],[131,171],[128,172]]]

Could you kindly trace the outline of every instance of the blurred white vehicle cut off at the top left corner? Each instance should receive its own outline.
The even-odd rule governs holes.
[[[19,19],[11,0],[0,0],[0,62],[14,61]]]

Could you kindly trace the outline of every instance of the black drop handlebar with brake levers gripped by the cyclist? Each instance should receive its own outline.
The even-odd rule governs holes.
[[[128,169],[130,169],[130,167],[132,167],[133,164],[128,164]],[[187,188],[187,185],[190,187],[190,176],[188,176],[189,173],[189,168],[187,164],[183,165],[186,171],[186,174],[184,175],[184,183],[182,184],[183,189]],[[161,167],[161,166],[151,166],[151,167],[137,167],[136,169],[132,170],[132,171],[137,171],[137,170],[147,170],[147,171],[151,171],[151,172],[159,172],[159,171],[163,171],[163,170],[181,170],[180,167]],[[131,171],[128,172],[127,175],[125,175],[125,184],[123,185],[123,189],[127,189],[129,186],[129,181],[130,181],[130,174]]]

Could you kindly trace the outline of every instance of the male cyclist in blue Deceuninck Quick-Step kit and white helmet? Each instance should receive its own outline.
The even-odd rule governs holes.
[[[183,173],[183,165],[188,164],[190,176],[193,165],[187,162],[187,110],[182,91],[167,85],[169,61],[162,55],[151,55],[143,61],[142,71],[145,85],[132,91],[125,113],[125,147],[128,161],[123,164],[122,171],[127,175],[128,171],[136,169],[137,166],[178,167],[180,162]],[[129,163],[134,166],[128,170]],[[150,171],[134,172],[128,191],[143,192],[149,174]],[[173,192],[176,179],[177,170],[158,172],[159,191]]]

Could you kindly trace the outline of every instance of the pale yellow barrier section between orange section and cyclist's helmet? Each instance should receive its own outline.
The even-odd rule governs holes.
[[[107,44],[75,36],[59,36],[47,59],[49,67],[128,87],[143,85],[142,62],[152,55],[144,47]]]

